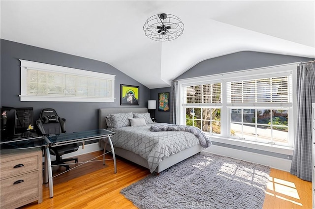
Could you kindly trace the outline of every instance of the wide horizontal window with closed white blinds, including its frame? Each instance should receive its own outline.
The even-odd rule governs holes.
[[[114,75],[21,60],[21,101],[114,102]]]

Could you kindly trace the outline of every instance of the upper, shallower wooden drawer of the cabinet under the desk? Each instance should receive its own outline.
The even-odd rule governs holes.
[[[1,162],[0,169],[1,179],[36,170],[38,169],[38,156]]]

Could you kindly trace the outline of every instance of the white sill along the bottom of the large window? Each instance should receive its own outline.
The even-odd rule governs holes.
[[[279,154],[284,154],[284,155],[289,155],[289,156],[293,155],[293,147],[284,147],[284,146],[274,145],[274,144],[264,144],[260,142],[244,141],[244,140],[233,139],[233,138],[224,138],[224,137],[214,136],[214,135],[209,135],[209,136],[211,138],[211,141],[214,141],[214,142],[240,146],[240,147],[246,147],[246,148],[256,149],[256,150],[263,150],[267,152],[279,153]]]

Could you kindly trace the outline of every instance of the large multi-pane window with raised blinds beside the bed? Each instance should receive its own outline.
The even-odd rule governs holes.
[[[179,81],[180,124],[219,139],[293,147],[295,69],[292,64]]]

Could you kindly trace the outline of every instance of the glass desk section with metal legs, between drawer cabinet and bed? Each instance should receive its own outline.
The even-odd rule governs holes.
[[[113,146],[113,143],[110,139],[110,137],[113,135],[114,135],[114,132],[108,131],[105,129],[92,130],[92,131],[80,131],[80,132],[73,132],[73,133],[59,133],[59,134],[44,135],[43,137],[44,137],[45,141],[49,144],[49,146],[46,146],[46,148],[45,148],[45,153],[46,153],[46,155],[45,155],[45,180],[47,180],[47,175],[48,175],[50,198],[52,198],[54,196],[54,188],[53,188],[53,172],[52,172],[49,147],[57,147],[57,146],[62,146],[62,145],[66,145],[66,144],[73,144],[73,143],[82,142],[82,149],[84,149],[84,144],[86,141],[103,139],[105,141],[105,143],[109,142],[109,144],[110,144],[111,152],[113,154],[113,160],[114,160],[114,170],[115,170],[115,173],[117,173],[114,146]],[[106,154],[106,151],[104,149],[104,152],[102,154],[103,164],[105,164],[105,154]],[[77,165],[77,166],[75,166],[75,167],[73,167],[67,171],[70,171],[70,170],[72,170],[78,166],[81,166],[85,163],[95,161],[94,159],[95,158],[93,158],[89,161],[86,161],[86,162],[82,162],[80,165]],[[48,171],[48,174],[46,171]],[[64,171],[63,173],[65,173],[67,171]],[[63,173],[61,173],[61,174],[63,174]]]

